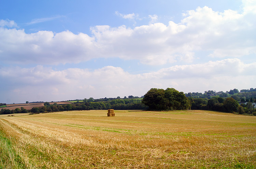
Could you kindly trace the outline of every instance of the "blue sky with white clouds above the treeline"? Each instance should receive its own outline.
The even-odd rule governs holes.
[[[0,2],[0,102],[256,88],[256,0]]]

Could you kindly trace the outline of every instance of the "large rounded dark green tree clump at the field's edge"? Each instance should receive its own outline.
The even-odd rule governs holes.
[[[186,110],[190,102],[183,92],[173,88],[150,89],[142,99],[142,103],[150,110]]]

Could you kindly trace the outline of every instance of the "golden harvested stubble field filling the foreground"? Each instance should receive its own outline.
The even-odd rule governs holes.
[[[0,116],[0,168],[256,168],[256,117],[107,110]]]

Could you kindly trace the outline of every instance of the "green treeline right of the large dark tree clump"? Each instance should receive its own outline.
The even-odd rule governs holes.
[[[253,114],[256,115],[256,99],[240,104],[232,97],[222,98],[222,97],[212,97],[208,98],[193,98],[189,97],[191,102],[191,110],[214,110],[229,113],[239,113],[239,114]]]

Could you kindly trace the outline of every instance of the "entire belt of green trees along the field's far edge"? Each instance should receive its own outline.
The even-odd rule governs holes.
[[[228,97],[230,96],[231,97]],[[227,97],[224,97],[227,96]],[[244,104],[239,105],[238,101],[244,101]],[[255,103],[253,103],[255,102]],[[256,104],[256,88],[250,90],[237,89],[229,92],[205,91],[202,93],[184,94],[173,88],[150,89],[144,96],[125,96],[124,98],[101,98],[84,99],[82,102],[74,102],[66,105],[50,105],[45,102],[43,107],[34,107],[31,110],[26,110],[23,107],[15,110],[1,109],[0,114],[11,113],[43,113],[54,111],[69,111],[69,110],[214,110],[222,112],[238,112],[239,114],[250,113],[254,114],[254,104]],[[6,104],[2,104],[6,105]],[[1,105],[0,105],[1,106]],[[255,112],[256,113],[256,112]]]

